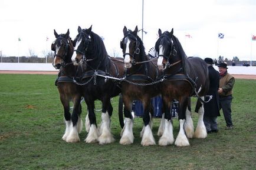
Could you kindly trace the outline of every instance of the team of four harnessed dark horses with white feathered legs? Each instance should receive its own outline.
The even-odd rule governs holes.
[[[87,104],[85,141],[109,144],[114,142],[111,134],[110,117],[113,112],[110,99],[122,94],[124,104],[124,126],[120,144],[128,145],[134,141],[132,102],[140,100],[143,104],[143,129],[141,145],[155,145],[152,133],[152,104],[150,99],[161,95],[162,119],[157,135],[158,144],[167,146],[189,146],[188,138],[206,138],[203,122],[204,96],[209,88],[208,67],[201,58],[188,58],[178,39],[171,32],[159,29],[155,49],[156,58],[150,59],[145,53],[142,40],[134,31],[123,28],[120,48],[123,58],[113,58],[107,54],[99,35],[78,26],[74,41],[66,34],[57,34],[51,49],[55,52],[52,65],[60,69],[55,84],[64,107],[66,142],[79,142],[78,133],[82,129],[81,98]],[[199,114],[198,125],[194,132],[191,118],[191,96],[197,96],[196,112]],[[172,101],[179,101],[179,133],[173,137]],[[70,100],[73,110],[70,113]],[[98,127],[94,112],[94,101],[102,102],[101,125]]]

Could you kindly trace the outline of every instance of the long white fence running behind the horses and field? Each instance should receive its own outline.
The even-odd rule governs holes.
[[[217,66],[214,66],[218,70]],[[44,63],[0,63],[5,71],[56,71],[51,64]],[[230,74],[256,75],[256,66],[228,66]]]

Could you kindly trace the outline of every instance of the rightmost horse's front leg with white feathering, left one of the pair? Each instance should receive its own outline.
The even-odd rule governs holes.
[[[160,146],[167,146],[171,145],[174,142],[173,138],[173,126],[172,126],[172,114],[171,106],[172,106],[172,99],[164,98],[163,99],[163,108],[165,111],[164,119],[163,119],[163,129],[162,129],[162,136],[160,137],[158,144]]]

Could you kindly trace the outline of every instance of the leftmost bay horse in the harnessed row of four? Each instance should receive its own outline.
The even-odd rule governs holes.
[[[66,142],[79,142],[78,133],[81,132],[83,123],[80,118],[80,86],[73,83],[73,78],[77,78],[76,74],[79,70],[78,66],[74,66],[71,61],[74,52],[73,41],[70,38],[69,29],[66,34],[57,34],[54,29],[54,35],[56,40],[51,44],[51,50],[54,51],[52,66],[60,69],[55,85],[58,87],[63,104],[66,125],[62,139]],[[72,114],[70,114],[70,101],[73,102]]]

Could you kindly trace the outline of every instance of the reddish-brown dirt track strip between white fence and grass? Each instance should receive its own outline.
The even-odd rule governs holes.
[[[53,74],[57,75],[58,71],[0,71],[0,74]],[[237,79],[256,79],[256,75],[233,74]]]

